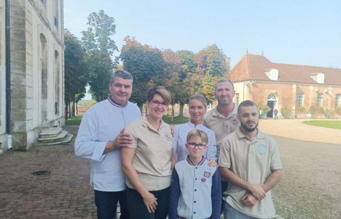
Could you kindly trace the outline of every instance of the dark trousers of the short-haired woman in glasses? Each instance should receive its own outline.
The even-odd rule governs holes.
[[[154,213],[148,212],[142,196],[135,189],[127,188],[127,203],[131,219],[167,218],[170,187],[158,191],[150,191],[150,193],[157,199],[157,207]]]

